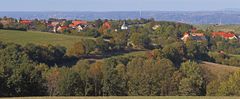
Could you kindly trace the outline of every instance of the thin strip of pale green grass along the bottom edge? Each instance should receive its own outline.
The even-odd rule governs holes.
[[[2,99],[239,99],[240,97],[127,96],[127,97],[19,97]]]

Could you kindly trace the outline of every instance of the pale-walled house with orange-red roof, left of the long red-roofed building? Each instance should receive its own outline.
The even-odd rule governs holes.
[[[197,42],[202,42],[202,41],[207,40],[204,33],[189,33],[189,32],[185,32],[184,36],[181,39],[184,42],[187,42],[188,40],[194,40],[194,41],[197,41]]]

